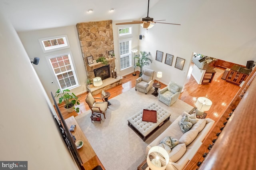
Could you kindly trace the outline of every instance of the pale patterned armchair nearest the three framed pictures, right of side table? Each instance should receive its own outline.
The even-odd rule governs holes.
[[[171,106],[180,96],[182,86],[169,82],[168,86],[159,90],[158,100]]]

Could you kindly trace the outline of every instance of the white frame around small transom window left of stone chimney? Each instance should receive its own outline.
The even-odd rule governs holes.
[[[59,38],[63,38],[64,44],[60,44],[60,45],[56,45],[56,46],[50,46],[50,47],[45,47],[44,46],[44,41],[54,40],[54,39],[59,39]],[[44,53],[52,52],[52,51],[56,51],[56,50],[62,50],[62,49],[70,47],[69,43],[68,43],[68,36],[67,35],[53,36],[53,37],[48,37],[48,38],[40,38],[39,43],[40,43]]]

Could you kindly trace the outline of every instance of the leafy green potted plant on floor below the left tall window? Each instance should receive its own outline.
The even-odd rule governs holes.
[[[75,108],[75,106],[80,104],[80,100],[78,100],[78,97],[74,93],[70,93],[69,89],[58,89],[54,97],[60,97],[59,103],[64,102],[64,108],[67,109],[69,113],[72,113],[74,110],[77,113],[79,112],[79,108]]]

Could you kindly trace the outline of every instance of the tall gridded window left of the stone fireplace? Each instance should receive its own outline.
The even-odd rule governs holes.
[[[49,61],[62,90],[78,86],[70,54],[50,57]]]

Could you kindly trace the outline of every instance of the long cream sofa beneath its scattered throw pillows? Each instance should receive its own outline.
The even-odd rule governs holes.
[[[183,112],[183,114],[180,115],[176,120],[174,120],[174,122],[172,122],[172,124],[170,124],[170,126],[166,130],[164,130],[164,132],[162,132],[162,134],[160,134],[154,141],[152,141],[146,147],[146,155],[145,155],[146,157],[148,155],[148,151],[150,150],[150,148],[152,148],[153,146],[158,146],[160,144],[160,141],[163,140],[167,136],[172,136],[180,141],[181,137],[184,134],[180,129],[179,122],[184,115],[190,116],[190,114]],[[199,121],[199,120],[200,119],[197,119],[197,121]],[[207,136],[208,132],[210,131],[210,129],[212,128],[212,126],[214,124],[214,120],[212,120],[210,118],[206,118],[205,120],[206,120],[206,124],[205,124],[204,128],[202,129],[202,131],[200,131],[197,134],[196,138],[190,144],[188,144],[186,146],[186,152],[183,154],[183,156],[176,162],[169,161],[169,163],[166,167],[166,170],[182,170],[186,166],[186,164],[189,162],[189,160],[191,160],[193,158],[194,154],[197,152],[198,148],[201,146],[202,141]],[[200,121],[202,121],[202,119]],[[193,128],[193,126],[192,126],[192,128],[190,128],[191,130],[195,129],[195,127]],[[196,130],[194,130],[194,131],[196,131]],[[184,137],[183,137],[183,139],[184,139]],[[180,141],[180,143],[184,143],[184,142]],[[183,144],[183,146],[184,146],[184,144]],[[177,146],[175,146],[175,147],[177,147]],[[170,160],[171,160],[171,158],[170,158]]]

